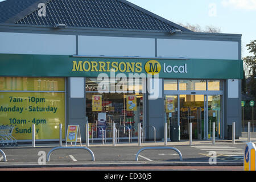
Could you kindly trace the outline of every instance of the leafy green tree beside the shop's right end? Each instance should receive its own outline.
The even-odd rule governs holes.
[[[250,94],[256,98],[256,40],[251,40],[249,44],[246,45],[247,50],[253,53],[253,56],[243,57],[243,61],[249,68],[250,82],[247,85],[250,88]]]

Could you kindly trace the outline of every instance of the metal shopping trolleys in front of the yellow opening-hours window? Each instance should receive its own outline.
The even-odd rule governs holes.
[[[0,126],[0,146],[18,146],[18,140],[12,135],[14,127],[13,125]]]

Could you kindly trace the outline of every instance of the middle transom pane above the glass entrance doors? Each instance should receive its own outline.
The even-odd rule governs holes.
[[[206,90],[206,80],[179,80],[179,90]]]

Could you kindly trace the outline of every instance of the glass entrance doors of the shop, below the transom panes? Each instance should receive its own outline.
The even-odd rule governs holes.
[[[223,137],[221,95],[180,94],[164,98],[168,138],[172,141],[189,139],[189,123],[193,139],[211,139],[213,123],[215,138]]]

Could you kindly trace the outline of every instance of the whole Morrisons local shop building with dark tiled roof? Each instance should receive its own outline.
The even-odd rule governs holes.
[[[39,6],[39,3],[40,6]],[[21,6],[22,4],[22,6]],[[0,123],[13,135],[63,139],[85,123],[90,138],[117,123],[138,137],[241,136],[241,35],[187,30],[124,0],[0,2]],[[158,79],[156,79],[158,78]],[[126,127],[126,128],[127,128]],[[92,131],[94,131],[92,133]],[[121,132],[122,131],[122,132]],[[92,136],[94,135],[94,136]]]

